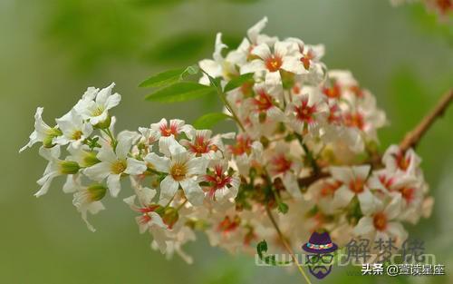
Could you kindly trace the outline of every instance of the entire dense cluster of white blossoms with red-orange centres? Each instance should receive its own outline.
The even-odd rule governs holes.
[[[220,91],[237,134],[162,119],[116,135],[110,112],[120,94],[114,84],[88,88],[53,127],[43,108],[36,111],[21,149],[40,142],[49,162],[36,196],[65,176],[63,191],[94,230],[87,212],[103,210],[107,191],[119,196],[120,180],[129,179],[133,195],[124,201],[140,232],[150,233],[152,248],[188,261],[181,249],[196,230],[230,252],[254,251],[263,239],[280,243],[268,216],[274,210],[294,246],[313,230],[330,231],[339,244],[353,236],[405,240],[401,222],[427,217],[432,205],[419,157],[390,146],[375,159],[386,124],[375,97],[351,73],[329,71],[323,45],[262,34],[266,22],[227,53],[217,34],[213,59],[198,64],[199,83]]]

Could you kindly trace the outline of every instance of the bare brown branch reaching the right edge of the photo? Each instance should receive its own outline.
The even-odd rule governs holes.
[[[429,130],[431,125],[442,116],[448,108],[448,105],[453,101],[453,89],[449,90],[439,101],[434,109],[421,122],[410,132],[406,134],[402,142],[400,142],[400,149],[406,152],[410,148],[415,148],[419,143],[421,137]]]

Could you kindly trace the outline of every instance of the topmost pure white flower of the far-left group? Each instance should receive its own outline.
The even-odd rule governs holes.
[[[74,106],[77,113],[81,113],[83,119],[90,120],[92,125],[105,122],[109,116],[109,110],[120,103],[119,93],[111,94],[115,83],[111,83],[101,91],[90,87],[83,93],[82,99]]]

